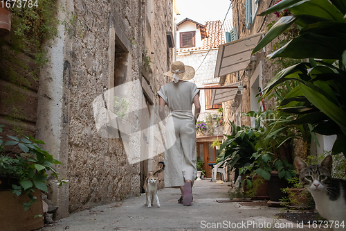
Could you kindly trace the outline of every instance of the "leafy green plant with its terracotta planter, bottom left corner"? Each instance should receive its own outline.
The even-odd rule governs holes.
[[[15,230],[40,228],[44,225],[41,191],[47,191],[47,172],[57,178],[53,164],[61,163],[39,147],[39,144],[44,144],[41,140],[30,135],[21,135],[20,139],[8,137],[11,140],[3,146],[0,137],[0,213],[16,218],[17,222],[10,224]],[[21,153],[13,153],[14,148]]]

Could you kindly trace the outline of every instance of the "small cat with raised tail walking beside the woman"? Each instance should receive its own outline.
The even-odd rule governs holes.
[[[160,201],[158,200],[157,196],[157,182],[158,182],[158,173],[161,173],[165,169],[165,163],[158,162],[158,164],[162,164],[162,169],[154,172],[154,174],[150,175],[145,179],[144,183],[144,189],[145,189],[145,195],[147,197],[147,201],[145,202],[145,205],[147,207],[152,207],[154,205],[154,197],[156,198],[157,207],[161,207]]]

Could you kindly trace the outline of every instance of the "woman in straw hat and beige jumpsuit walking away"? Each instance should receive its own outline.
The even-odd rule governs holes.
[[[194,83],[184,81],[194,77],[194,69],[183,62],[173,62],[171,70],[164,75],[173,77],[173,82],[157,92],[161,120],[165,120],[165,105],[170,109],[165,130],[165,187],[179,188],[178,203],[188,206],[192,203],[192,185],[197,176],[195,124],[201,111],[199,89]]]

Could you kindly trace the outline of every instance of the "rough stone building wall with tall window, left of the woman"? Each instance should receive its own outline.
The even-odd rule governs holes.
[[[48,140],[48,151],[64,163],[58,170],[69,180],[67,191],[53,192],[55,202],[66,207],[66,201],[59,200],[67,195],[68,212],[75,212],[138,196],[141,174],[155,171],[157,162],[163,160],[159,155],[150,163],[130,163],[125,143],[140,156],[143,136],[135,130],[140,130],[143,123],[143,105],[156,105],[156,91],[167,83],[161,73],[172,59],[166,40],[166,31],[172,31],[172,1],[60,3],[66,10],[59,13],[69,23],[60,28],[62,37],[50,50],[51,57],[60,58],[51,60],[40,76],[40,80],[51,84],[41,89],[39,119],[44,122],[38,124],[37,131],[38,137]],[[71,17],[74,22],[69,21]],[[154,62],[149,63],[148,70],[143,64],[145,56]],[[93,111],[95,99],[125,83],[133,86],[129,92],[118,92],[127,95],[132,112],[126,115],[134,125],[129,141],[122,139],[118,130],[111,137],[100,134]],[[44,94],[53,100],[46,100]],[[113,95],[106,108],[113,108],[111,99]],[[58,212],[56,218],[64,216],[66,213]]]

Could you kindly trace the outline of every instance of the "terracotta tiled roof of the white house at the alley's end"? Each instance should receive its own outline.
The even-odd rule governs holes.
[[[202,46],[177,49],[176,52],[218,48],[219,45],[225,43],[224,31],[221,30],[221,25],[222,24],[220,20],[206,22],[205,28],[207,37],[203,38]]]

